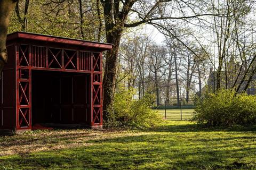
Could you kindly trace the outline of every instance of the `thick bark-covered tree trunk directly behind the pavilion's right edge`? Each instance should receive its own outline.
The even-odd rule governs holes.
[[[121,1],[101,0],[105,18],[105,32],[107,43],[113,44],[113,48],[106,53],[106,64],[103,77],[103,119],[108,121],[113,113],[113,95],[115,88],[116,60],[120,40],[127,19],[127,15],[135,1],[125,1],[123,10],[120,11]]]

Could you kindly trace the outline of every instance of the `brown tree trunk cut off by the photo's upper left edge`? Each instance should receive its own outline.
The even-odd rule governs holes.
[[[0,75],[2,75],[4,64],[7,62],[7,50],[5,43],[9,25],[9,18],[11,12],[14,9],[15,3],[17,3],[17,1],[0,1]]]

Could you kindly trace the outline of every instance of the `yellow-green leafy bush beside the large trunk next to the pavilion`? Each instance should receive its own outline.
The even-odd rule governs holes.
[[[151,109],[153,96],[146,94],[142,99],[133,99],[133,90],[121,90],[115,94],[113,120],[107,126],[149,127],[162,122],[162,117]]]

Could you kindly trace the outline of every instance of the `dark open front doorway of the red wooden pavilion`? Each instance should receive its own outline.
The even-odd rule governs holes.
[[[33,70],[32,125],[90,125],[90,74]]]

